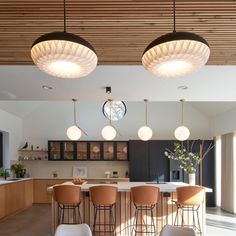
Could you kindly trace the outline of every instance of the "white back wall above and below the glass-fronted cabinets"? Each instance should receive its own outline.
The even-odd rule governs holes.
[[[108,123],[102,112],[102,103],[82,102],[78,104],[79,125],[88,133],[87,140],[103,140],[101,129]],[[126,116],[114,125],[122,136],[116,140],[138,139],[137,131],[144,125],[144,102],[127,102]],[[148,124],[154,131],[153,139],[174,139],[174,129],[180,124],[180,104],[178,102],[148,103]],[[209,138],[209,120],[191,105],[185,106],[186,126],[191,130],[191,138]],[[67,140],[66,130],[73,123],[73,104],[70,101],[44,102],[23,119],[22,143],[28,141],[34,147],[47,148],[48,140]],[[87,166],[88,177],[104,177],[106,170],[118,170],[125,176],[128,162],[27,162],[32,176],[52,176],[57,170],[60,177],[71,177],[73,166]]]

